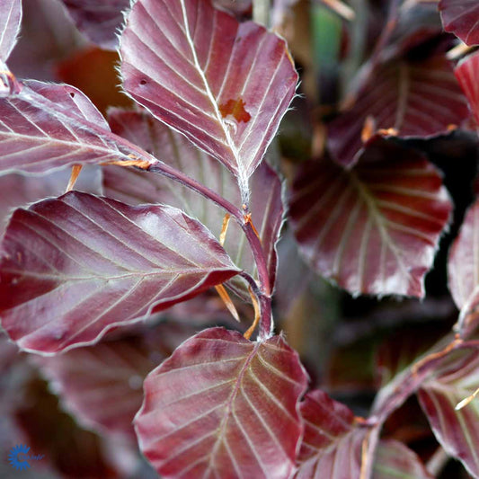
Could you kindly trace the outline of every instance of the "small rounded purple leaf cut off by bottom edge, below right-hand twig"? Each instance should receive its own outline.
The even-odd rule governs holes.
[[[421,459],[395,439],[377,445],[372,479],[433,479]]]

